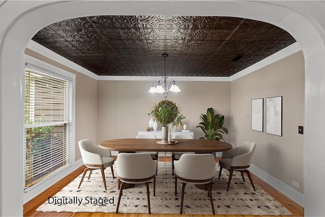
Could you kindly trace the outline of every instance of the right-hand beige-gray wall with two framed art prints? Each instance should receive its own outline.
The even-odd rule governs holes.
[[[231,82],[232,143],[256,142],[253,164],[304,193],[304,57],[297,52]],[[282,136],[267,134],[266,97],[282,96]],[[264,132],[251,130],[251,99],[264,98]]]

